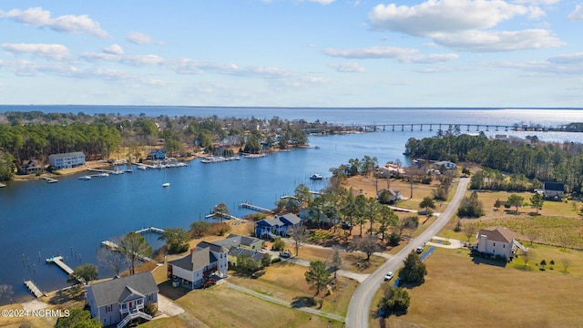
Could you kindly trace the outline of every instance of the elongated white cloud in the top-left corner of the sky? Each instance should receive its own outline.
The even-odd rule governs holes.
[[[48,27],[57,32],[68,34],[88,34],[97,37],[107,37],[107,32],[101,29],[99,23],[88,15],[61,15],[51,18],[51,13],[41,7],[28,8],[24,11],[12,9],[0,11],[0,17],[11,18],[16,22],[36,27]]]

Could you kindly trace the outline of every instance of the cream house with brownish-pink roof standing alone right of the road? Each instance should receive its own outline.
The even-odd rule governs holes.
[[[480,230],[477,235],[477,251],[512,260],[517,248],[527,251],[517,240],[517,233],[504,227],[490,227]]]

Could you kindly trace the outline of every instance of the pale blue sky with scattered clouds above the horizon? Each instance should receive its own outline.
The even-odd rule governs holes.
[[[0,104],[583,108],[583,0],[0,2]]]

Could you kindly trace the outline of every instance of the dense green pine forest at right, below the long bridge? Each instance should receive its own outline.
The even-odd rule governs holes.
[[[412,159],[471,162],[486,168],[478,189],[521,190],[524,181],[563,182],[567,192],[580,192],[583,184],[583,145],[547,143],[537,137],[489,139],[446,133],[434,138],[409,138],[404,155]],[[488,170],[489,169],[489,170]],[[496,177],[509,177],[511,185],[491,186]],[[498,179],[498,180],[500,180]],[[521,182],[522,181],[522,182]],[[515,187],[512,187],[514,183]],[[477,186],[473,186],[477,187]]]

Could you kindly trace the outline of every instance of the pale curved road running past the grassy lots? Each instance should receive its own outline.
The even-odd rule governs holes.
[[[373,302],[374,293],[381,287],[384,280],[385,272],[396,272],[403,264],[404,258],[409,255],[416,247],[422,246],[425,241],[429,241],[435,234],[440,231],[447,221],[449,221],[459,207],[464,198],[465,190],[470,182],[469,178],[459,179],[457,190],[455,190],[454,199],[447,205],[443,213],[437,217],[435,223],[423,231],[417,238],[409,241],[403,250],[399,251],[392,259],[384,264],[373,274],[371,274],[363,283],[361,283],[353,293],[353,298],[348,305],[346,314],[346,327],[364,328],[368,327],[371,302]]]

